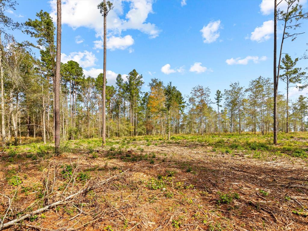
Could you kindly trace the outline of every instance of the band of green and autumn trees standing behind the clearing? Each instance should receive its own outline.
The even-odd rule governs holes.
[[[286,29],[292,28],[293,24],[288,26],[292,19],[299,27],[298,20],[307,15],[296,1],[287,2],[292,13],[279,11],[280,20],[285,20]],[[61,5],[60,1],[57,3]],[[292,59],[288,54],[282,57],[282,46],[280,73],[274,74],[274,83],[262,76],[251,80],[247,88],[234,82],[228,89],[217,90],[213,100],[209,87],[198,85],[184,96],[171,82],[164,84],[159,79],[151,79],[150,90],[142,92],[143,78],[135,69],[125,78],[118,75],[115,86],[107,85],[106,52],[104,73],[95,78],[85,76],[83,68],[73,60],[60,63],[56,56],[60,51],[61,21],[57,23],[56,43],[56,28],[47,12],[41,10],[35,19],[22,25],[4,14],[9,8],[14,10],[14,6],[15,2],[9,0],[0,4],[0,31],[5,35],[0,41],[2,145],[20,144],[22,136],[39,137],[46,143],[103,138],[104,134],[107,137],[161,135],[170,139],[172,134],[180,133],[266,135],[274,131],[308,130],[307,97],[289,99],[290,87],[299,83],[302,89],[307,87],[307,75],[297,67],[298,58]],[[103,2],[98,8],[105,23],[112,4]],[[274,15],[277,17],[277,10]],[[286,21],[286,17],[291,21]],[[17,42],[6,34],[12,29],[22,30],[35,38],[37,44]],[[286,33],[285,39],[297,35]],[[39,49],[39,59],[33,54],[33,47]],[[306,54],[302,58],[306,59]],[[284,82],[286,95],[278,92],[278,80]]]

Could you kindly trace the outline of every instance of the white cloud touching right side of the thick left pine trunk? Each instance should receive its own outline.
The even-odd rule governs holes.
[[[86,68],[95,66],[97,59],[95,55],[89,51],[71,52],[69,55],[61,53],[61,62],[67,63],[69,60],[76,61],[81,67]]]

